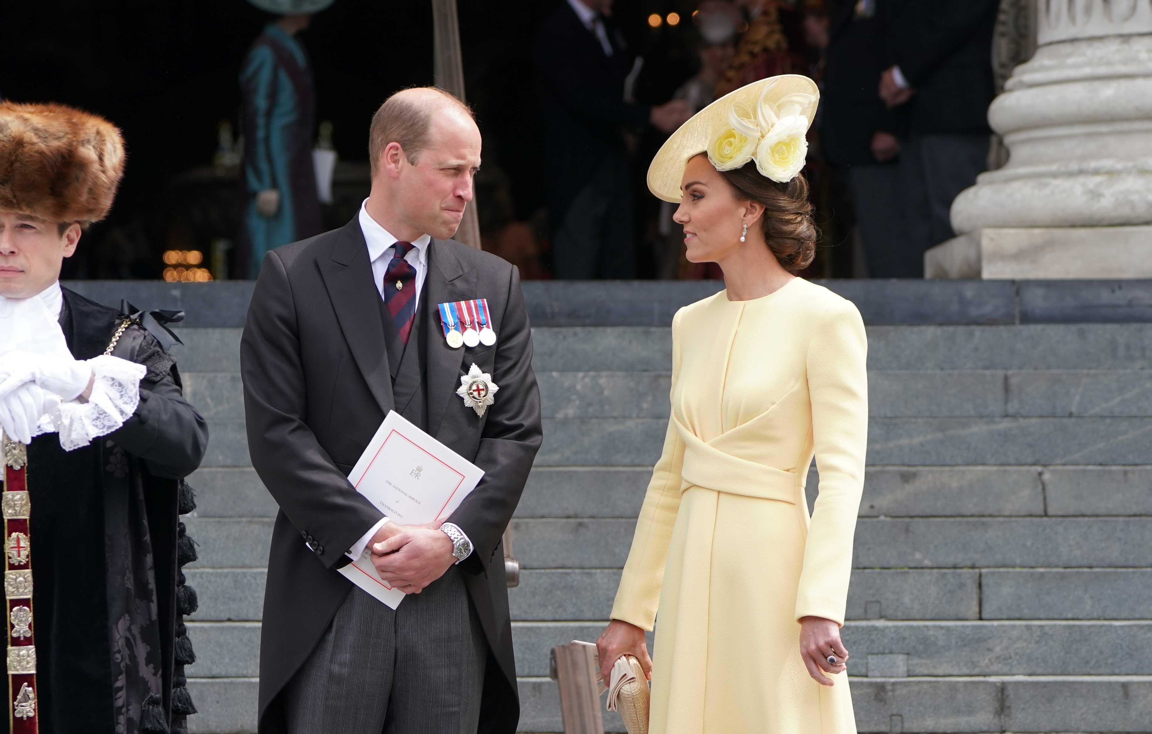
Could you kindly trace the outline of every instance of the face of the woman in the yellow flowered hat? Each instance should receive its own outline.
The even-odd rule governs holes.
[[[680,191],[680,208],[672,219],[684,228],[684,257],[689,262],[727,259],[742,244],[744,202],[704,153],[688,161]]]

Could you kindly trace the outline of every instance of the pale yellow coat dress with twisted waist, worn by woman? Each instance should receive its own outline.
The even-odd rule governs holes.
[[[644,629],[659,610],[650,731],[855,734],[848,675],[811,679],[798,619],[844,620],[867,441],[859,312],[795,278],[687,306],[672,334],[672,418],[612,610]]]

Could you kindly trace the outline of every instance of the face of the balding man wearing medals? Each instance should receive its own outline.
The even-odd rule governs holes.
[[[435,113],[429,145],[400,175],[400,205],[411,225],[438,239],[456,234],[480,167],[480,131],[455,109]]]

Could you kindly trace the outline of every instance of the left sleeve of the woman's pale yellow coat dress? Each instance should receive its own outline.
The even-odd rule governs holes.
[[[672,392],[676,391],[680,376],[680,321],[683,311],[677,311],[672,320]],[[676,430],[675,421],[668,419],[668,431],[664,450],[649,482],[632,548],[628,553],[620,589],[612,606],[612,619],[619,619],[643,629],[655,626],[655,612],[660,602],[660,586],[664,567],[668,559],[672,528],[680,509],[681,471],[684,465],[684,442]]]

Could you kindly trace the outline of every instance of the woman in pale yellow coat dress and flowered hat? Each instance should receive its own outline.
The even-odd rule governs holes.
[[[856,732],[839,629],[867,345],[851,301],[794,275],[816,239],[799,169],[817,95],[791,75],[736,90],[649,170],[680,204],[688,259],[718,262],[727,286],[673,319],[668,433],[598,641],[605,680],[624,653],[650,671],[652,734]]]

